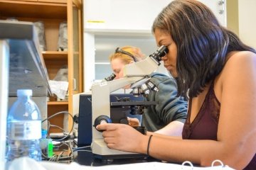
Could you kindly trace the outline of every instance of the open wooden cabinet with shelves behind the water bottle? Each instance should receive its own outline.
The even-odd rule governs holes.
[[[72,114],[72,95],[82,92],[82,1],[0,0],[0,19],[7,18],[15,18],[18,21],[43,21],[47,50],[42,53],[49,79],[53,79],[63,65],[68,65],[69,82],[68,101],[49,101],[48,117],[59,111]],[[58,52],[58,33],[63,21],[68,22],[68,51]],[[61,128],[65,124],[65,130],[71,130],[73,119],[60,114],[49,122]],[[50,132],[62,130],[50,128]]]

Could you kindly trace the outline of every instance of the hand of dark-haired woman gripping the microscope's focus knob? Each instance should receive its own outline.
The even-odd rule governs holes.
[[[102,132],[102,136],[107,143],[107,147],[110,149],[146,154],[149,137],[142,135],[142,133],[131,126],[117,123],[105,123],[97,125],[96,128],[97,130],[105,130]]]

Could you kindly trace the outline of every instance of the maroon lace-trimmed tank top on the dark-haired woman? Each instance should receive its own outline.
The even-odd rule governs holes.
[[[182,131],[182,138],[184,140],[217,140],[220,102],[216,98],[213,88],[214,81],[210,84],[203,105],[192,123],[190,123],[192,100],[191,98],[189,99],[188,118],[184,123]],[[256,169],[256,154],[245,169]]]

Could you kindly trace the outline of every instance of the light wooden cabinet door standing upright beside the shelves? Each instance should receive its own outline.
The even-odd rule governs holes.
[[[82,3],[68,0],[68,112],[72,113],[73,94],[82,92]],[[72,125],[68,119],[68,129]]]

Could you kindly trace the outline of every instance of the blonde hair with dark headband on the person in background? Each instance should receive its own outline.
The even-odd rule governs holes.
[[[138,47],[127,45],[124,47],[118,47],[117,50],[110,55],[110,62],[119,58],[124,64],[129,64],[131,62],[144,60],[144,56],[145,55],[142,53],[142,50],[140,50]]]

